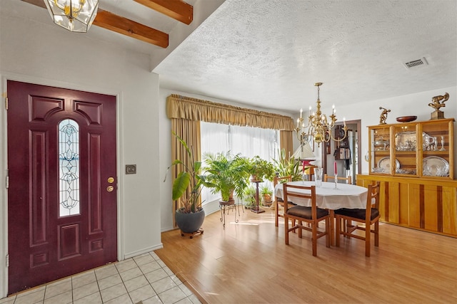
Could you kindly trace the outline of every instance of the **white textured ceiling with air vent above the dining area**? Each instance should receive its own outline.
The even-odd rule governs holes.
[[[165,88],[289,112],[314,106],[316,82],[323,105],[455,86],[456,3],[226,0],[154,72]]]

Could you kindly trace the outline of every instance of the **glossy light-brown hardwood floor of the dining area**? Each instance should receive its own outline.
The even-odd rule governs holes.
[[[266,208],[264,208],[266,209]],[[457,239],[380,224],[379,247],[365,256],[364,242],[341,239],[326,248],[311,235],[290,235],[274,211],[233,211],[206,216],[204,234],[162,233],[156,254],[207,303],[457,303]]]

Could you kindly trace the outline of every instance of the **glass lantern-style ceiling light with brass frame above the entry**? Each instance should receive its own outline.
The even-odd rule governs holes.
[[[86,33],[94,22],[99,0],[44,0],[52,20],[69,31]]]

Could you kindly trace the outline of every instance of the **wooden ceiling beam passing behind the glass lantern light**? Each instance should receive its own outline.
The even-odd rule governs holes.
[[[43,0],[22,1],[46,9],[46,4],[44,4]],[[150,28],[149,26],[145,26],[141,23],[131,21],[130,19],[126,19],[122,16],[117,16],[110,13],[109,11],[104,11],[102,9],[97,11],[94,25],[100,26],[101,28],[106,28],[110,31],[115,31],[116,33],[121,33],[131,38],[154,44],[155,46],[160,46],[162,48],[169,46],[169,35],[167,33],[156,30],[155,28]]]

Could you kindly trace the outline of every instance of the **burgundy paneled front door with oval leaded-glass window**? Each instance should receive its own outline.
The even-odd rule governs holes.
[[[11,294],[116,261],[116,97],[7,88]]]

